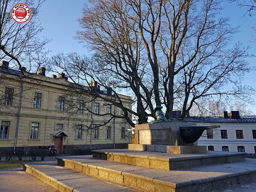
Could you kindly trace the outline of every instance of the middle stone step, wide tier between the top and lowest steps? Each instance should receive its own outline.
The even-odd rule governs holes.
[[[255,159],[180,170],[159,170],[88,156],[57,160],[66,168],[147,192],[212,192],[256,180]]]

